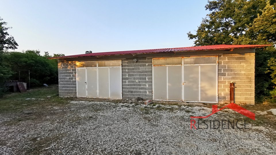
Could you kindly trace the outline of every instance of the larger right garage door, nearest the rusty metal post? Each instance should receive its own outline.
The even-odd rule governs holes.
[[[153,99],[217,103],[217,57],[153,59]]]

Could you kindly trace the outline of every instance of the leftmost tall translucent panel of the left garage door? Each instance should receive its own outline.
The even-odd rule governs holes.
[[[77,69],[77,91],[78,96],[85,96],[86,97],[86,74],[85,68]]]

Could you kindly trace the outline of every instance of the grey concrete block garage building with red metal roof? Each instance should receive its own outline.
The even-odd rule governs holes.
[[[254,104],[255,48],[210,45],[117,51],[58,59],[59,96]]]

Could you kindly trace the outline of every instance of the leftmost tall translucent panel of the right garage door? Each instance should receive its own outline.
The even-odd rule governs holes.
[[[167,66],[153,67],[154,99],[167,100]]]

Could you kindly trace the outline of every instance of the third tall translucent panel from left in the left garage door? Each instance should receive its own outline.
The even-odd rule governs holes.
[[[99,97],[109,98],[109,68],[98,68]]]

